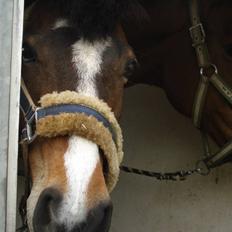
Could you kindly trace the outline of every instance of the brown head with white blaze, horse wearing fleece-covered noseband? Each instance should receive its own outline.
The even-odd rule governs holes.
[[[135,56],[117,26],[124,1],[38,0],[26,13],[22,76],[37,104],[53,91],[105,101],[120,116]],[[98,146],[80,136],[29,147],[30,231],[108,231],[112,204]]]

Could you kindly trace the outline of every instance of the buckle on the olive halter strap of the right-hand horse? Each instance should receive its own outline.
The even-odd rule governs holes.
[[[204,30],[202,23],[199,23],[195,26],[190,27],[189,32],[192,38],[193,47],[196,47],[200,44],[205,43],[206,34],[205,34],[205,30]]]

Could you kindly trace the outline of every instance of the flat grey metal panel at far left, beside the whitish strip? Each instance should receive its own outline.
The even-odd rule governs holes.
[[[0,0],[0,231],[6,229],[6,183],[13,2]]]

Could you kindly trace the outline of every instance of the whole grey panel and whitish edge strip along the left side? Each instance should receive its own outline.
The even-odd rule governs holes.
[[[0,0],[0,231],[16,224],[23,0]]]

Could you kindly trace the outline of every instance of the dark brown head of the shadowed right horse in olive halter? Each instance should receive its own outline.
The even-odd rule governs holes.
[[[173,106],[191,117],[201,77],[189,33],[189,2],[143,0],[148,20],[140,28],[125,24],[125,31],[140,63],[140,70],[131,81],[160,86]],[[231,1],[198,2],[211,61],[222,80],[232,86]],[[212,85],[206,97],[202,128],[219,145],[232,138],[231,106]]]

